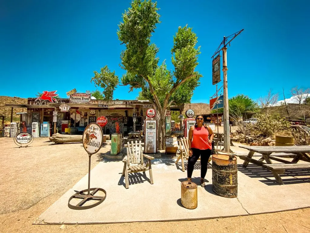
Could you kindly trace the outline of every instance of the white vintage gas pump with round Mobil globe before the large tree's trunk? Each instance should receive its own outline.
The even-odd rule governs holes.
[[[146,112],[148,118],[144,121],[144,153],[157,153],[157,121],[154,119],[155,110]]]

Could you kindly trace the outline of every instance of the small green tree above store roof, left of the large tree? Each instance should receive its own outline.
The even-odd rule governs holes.
[[[118,76],[115,75],[115,71],[111,72],[108,66],[104,66],[100,69],[100,73],[94,71],[95,76],[91,78],[91,82],[95,83],[96,87],[101,87],[103,100],[113,99],[113,92],[119,83]],[[101,96],[100,96],[101,98]]]

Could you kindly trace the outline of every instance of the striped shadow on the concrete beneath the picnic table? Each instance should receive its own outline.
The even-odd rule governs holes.
[[[242,164],[238,164],[238,171],[243,174],[253,177],[253,178],[261,178],[259,181],[266,185],[281,185],[274,178],[271,171],[267,168],[260,167],[255,164],[248,164],[247,167],[243,167]],[[294,178],[291,178],[291,177]],[[300,176],[308,176],[308,177],[300,177]],[[306,169],[299,170],[286,170],[285,174],[280,174],[280,177],[284,184],[300,184],[300,183],[308,183],[310,182],[310,171]],[[286,178],[290,177],[290,178]]]

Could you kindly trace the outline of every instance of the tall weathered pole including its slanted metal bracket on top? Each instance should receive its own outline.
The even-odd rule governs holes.
[[[223,89],[224,89],[224,111],[223,111],[223,121],[224,121],[224,151],[230,152],[230,138],[229,138],[229,109],[228,109],[228,85],[227,85],[227,47],[226,45],[237,37],[244,29],[238,31],[237,33],[234,33],[228,37],[224,36],[224,39],[222,43],[220,43],[219,48],[215,51],[212,58],[216,55],[216,53],[219,53],[220,50],[223,50]],[[232,39],[227,42],[228,38]],[[221,45],[223,44],[223,47],[220,49]]]

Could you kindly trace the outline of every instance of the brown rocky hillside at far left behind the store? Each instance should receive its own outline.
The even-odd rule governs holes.
[[[3,115],[4,123],[10,124],[11,122],[11,107],[4,106],[6,103],[11,104],[27,104],[26,98],[0,96],[0,115]],[[16,112],[27,112],[27,108],[13,108],[13,122],[20,121],[20,115],[16,115]],[[1,124],[1,122],[0,122]]]

